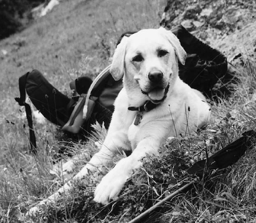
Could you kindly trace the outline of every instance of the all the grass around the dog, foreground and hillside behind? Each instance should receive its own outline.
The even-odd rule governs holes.
[[[193,190],[166,204],[153,222],[253,222],[255,219],[256,152],[250,149],[235,165],[209,172],[200,179],[186,170],[255,128],[255,65],[237,65],[238,84],[227,99],[212,101],[212,124],[197,137],[167,142],[160,158],[149,157],[117,201],[108,206],[92,202],[102,174],[80,181],[71,196],[44,207],[37,219],[25,216],[38,201],[53,194],[98,150],[106,131],[95,126],[88,142],[69,138],[51,123],[35,124],[38,157],[28,153],[28,127],[21,119],[18,77],[36,68],[59,90],[69,94],[68,83],[81,75],[96,76],[111,60],[121,33],[156,28],[164,1],[63,1],[47,17],[22,33],[0,42],[8,56],[0,58],[0,222],[129,222],[157,201],[195,181]],[[125,10],[124,10],[125,9]],[[25,125],[25,126],[24,126]],[[82,153],[84,151],[84,153]],[[74,172],[53,172],[60,158],[77,155]],[[123,155],[117,157],[120,159]],[[104,170],[112,168],[114,160]],[[61,169],[60,169],[61,170]],[[61,172],[61,171],[60,171]]]

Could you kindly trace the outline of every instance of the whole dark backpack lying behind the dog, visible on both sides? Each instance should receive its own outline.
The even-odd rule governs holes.
[[[192,88],[205,95],[212,95],[212,88],[217,81],[228,74],[226,57],[209,45],[189,33],[183,26],[176,26],[171,31],[179,38],[187,52],[185,65],[179,64],[180,78]],[[135,32],[124,33],[129,37]],[[121,42],[121,38],[117,44]],[[230,78],[230,77],[228,77]],[[30,128],[30,151],[36,153],[35,134],[29,104],[25,103],[26,93],[33,105],[47,120],[62,128],[63,131],[78,133],[81,129],[91,131],[91,124],[96,120],[108,128],[114,111],[114,101],[123,88],[123,81],[115,81],[110,74],[110,65],[94,81],[81,77],[70,83],[71,89],[78,96],[69,98],[51,85],[38,70],[32,70],[19,78],[21,96],[15,100],[26,108]]]

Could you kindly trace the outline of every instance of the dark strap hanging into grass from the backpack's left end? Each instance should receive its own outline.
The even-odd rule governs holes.
[[[30,105],[26,103],[26,79],[28,77],[28,74],[30,72],[27,72],[26,74],[22,75],[21,78],[19,78],[19,92],[20,97],[15,97],[15,101],[19,103],[20,106],[25,106],[26,111],[26,117],[28,119],[28,127],[30,128],[30,153],[37,154],[37,143],[35,140],[35,131],[33,129],[33,120],[32,120],[32,112]]]

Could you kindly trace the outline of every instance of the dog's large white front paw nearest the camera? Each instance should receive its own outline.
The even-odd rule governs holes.
[[[129,176],[124,174],[123,171],[119,172],[118,169],[112,169],[96,187],[94,201],[101,204],[108,204],[110,201],[116,199],[128,178]]]

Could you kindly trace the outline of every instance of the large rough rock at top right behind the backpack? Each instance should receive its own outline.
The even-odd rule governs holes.
[[[200,4],[199,4],[200,3]],[[243,6],[243,7],[242,7]],[[183,8],[183,13],[176,13]],[[162,26],[182,24],[193,35],[224,53],[229,62],[256,60],[255,3],[241,1],[167,0]],[[238,56],[239,55],[239,56]]]

